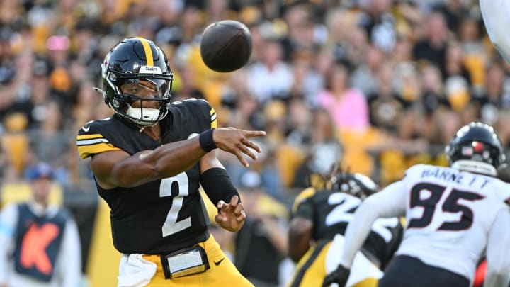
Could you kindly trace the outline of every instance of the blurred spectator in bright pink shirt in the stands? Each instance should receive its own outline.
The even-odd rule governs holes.
[[[369,126],[365,95],[348,86],[348,69],[344,64],[331,67],[326,89],[317,94],[319,106],[329,111],[342,131],[364,131]]]

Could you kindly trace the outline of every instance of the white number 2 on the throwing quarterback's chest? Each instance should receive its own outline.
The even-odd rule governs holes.
[[[179,211],[181,211],[183,206],[184,197],[189,194],[188,175],[186,172],[181,172],[176,176],[162,179],[159,186],[159,197],[171,196],[172,185],[174,183],[176,184],[178,193],[174,196],[169,213],[166,215],[166,220],[162,227],[163,237],[185,230],[191,226],[191,217],[183,218],[179,222],[177,221]]]

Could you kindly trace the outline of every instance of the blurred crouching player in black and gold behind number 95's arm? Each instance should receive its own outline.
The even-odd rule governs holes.
[[[289,286],[320,286],[336,269],[344,232],[361,201],[378,186],[363,174],[341,172],[329,188],[307,188],[295,199],[289,229],[289,255],[298,262]],[[357,255],[348,286],[377,286],[380,269],[387,264],[402,240],[398,218],[374,223],[370,236]],[[356,269],[356,271],[354,271]]]

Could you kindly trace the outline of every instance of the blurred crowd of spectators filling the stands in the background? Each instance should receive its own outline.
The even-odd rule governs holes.
[[[199,50],[222,19],[253,40],[249,64],[225,74]],[[95,191],[75,136],[111,115],[92,87],[130,35],[169,56],[174,101],[203,98],[220,126],[268,132],[251,168],[277,199],[335,164],[381,186],[411,164],[446,164],[446,141],[471,120],[510,143],[510,66],[475,0],[3,0],[0,25],[3,181],[43,161],[62,186]],[[244,167],[220,156],[235,183]]]

